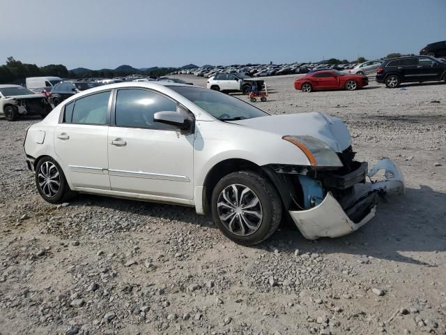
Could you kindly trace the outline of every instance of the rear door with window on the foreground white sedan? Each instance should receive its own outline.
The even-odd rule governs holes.
[[[107,133],[110,91],[84,96],[63,108],[54,149],[72,186],[110,189]]]

